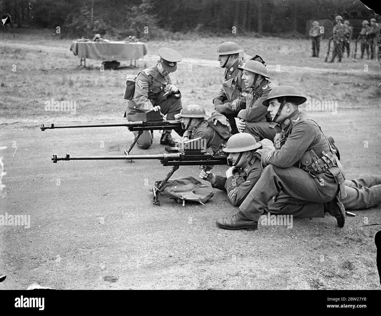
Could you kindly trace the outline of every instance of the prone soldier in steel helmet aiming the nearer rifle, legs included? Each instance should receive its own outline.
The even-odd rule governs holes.
[[[274,150],[271,140],[263,139],[256,142],[247,133],[235,134],[229,138],[224,152],[229,153],[232,167],[226,171],[226,176],[213,174],[202,170],[200,178],[207,180],[213,188],[224,190],[233,206],[240,206],[248,193],[259,180],[263,168],[261,156],[266,149]],[[368,176],[357,180],[345,180],[347,196],[340,199],[345,209],[359,210],[378,206],[381,203],[381,176]],[[311,209],[321,209],[319,203],[299,204],[291,196],[280,191],[270,199],[265,210],[271,214],[293,215],[293,217],[322,217],[322,212],[311,212]]]

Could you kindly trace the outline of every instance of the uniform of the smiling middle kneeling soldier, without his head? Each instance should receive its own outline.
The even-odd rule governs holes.
[[[271,89],[276,86],[275,83],[263,79],[256,89],[251,89],[247,94],[246,109],[238,115],[238,118],[245,120],[246,127],[243,132],[254,136],[257,142],[265,138],[273,140],[275,134],[280,132],[279,124],[271,124],[274,127],[269,127],[271,118],[268,115],[267,107],[262,104]]]

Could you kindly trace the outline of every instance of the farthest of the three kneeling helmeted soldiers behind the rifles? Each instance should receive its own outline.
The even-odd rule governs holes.
[[[243,64],[239,59],[239,53],[243,50],[237,43],[224,42],[218,46],[217,53],[219,65],[225,68],[222,88],[217,96],[213,98],[215,109],[225,115],[232,128],[232,134],[239,131],[235,122],[238,112],[246,107],[246,87],[242,81],[242,71],[238,66]]]

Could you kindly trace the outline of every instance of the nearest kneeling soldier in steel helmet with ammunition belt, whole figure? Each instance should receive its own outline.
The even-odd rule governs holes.
[[[267,203],[281,191],[290,196],[291,204],[320,205],[310,210],[311,217],[323,217],[326,211],[336,217],[339,227],[344,226],[345,210],[338,199],[339,193],[346,197],[342,167],[320,126],[299,112],[298,105],[304,102],[306,97],[291,86],[269,93],[263,105],[273,121],[280,122],[282,133],[274,138],[279,149],[264,150],[261,177],[238,213],[217,220],[219,227],[255,230]]]

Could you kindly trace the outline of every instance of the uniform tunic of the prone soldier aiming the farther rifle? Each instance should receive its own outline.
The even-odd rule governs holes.
[[[218,153],[223,148],[223,144],[226,143],[226,140],[215,129],[211,128],[205,120],[194,127],[192,137],[189,138],[195,139],[199,137],[205,141],[206,148],[202,149],[208,150],[210,148],[208,152],[212,150],[213,153]]]

